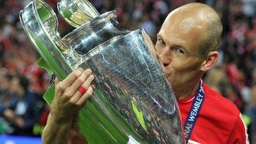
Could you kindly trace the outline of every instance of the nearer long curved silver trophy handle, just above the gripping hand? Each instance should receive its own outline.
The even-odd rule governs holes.
[[[57,32],[54,10],[41,0],[34,0],[20,12],[20,22],[36,50],[61,80],[72,72],[63,54],[68,54],[65,42]]]

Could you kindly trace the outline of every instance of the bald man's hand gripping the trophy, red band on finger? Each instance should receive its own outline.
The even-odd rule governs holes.
[[[68,119],[83,108],[86,100],[93,93],[93,88],[90,86],[93,79],[92,70],[84,71],[82,68],[74,70],[62,82],[56,79],[55,98],[51,108],[55,118]],[[77,90],[80,86],[87,89],[83,95]]]

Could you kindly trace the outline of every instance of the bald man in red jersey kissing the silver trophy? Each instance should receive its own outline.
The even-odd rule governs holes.
[[[157,35],[156,49],[163,62],[164,72],[172,83],[177,97],[188,143],[248,142],[246,126],[236,106],[200,80],[203,74],[210,70],[217,61],[218,52],[216,50],[221,33],[221,20],[214,9],[205,4],[190,3],[173,10]],[[83,78],[81,78],[82,71],[76,70],[61,84],[57,82],[57,98],[52,106],[51,115],[43,134],[45,143],[52,143],[60,138],[64,138],[63,141],[65,141],[65,138],[71,133],[72,120],[68,116],[76,114],[84,104],[78,103],[77,108],[73,108],[72,111],[63,112],[63,109],[71,109],[68,102],[74,102],[79,98],[82,99],[81,102],[84,102],[89,97],[83,98],[81,95],[76,95],[77,92],[74,89],[77,89],[82,81],[73,87],[74,89],[71,88],[74,85],[71,84],[75,81],[74,79],[79,77],[78,79],[85,81],[86,77],[91,74],[91,71],[86,71],[84,73],[87,74],[84,74]],[[76,73],[76,77],[74,73]],[[87,79],[86,82],[89,87],[92,79]],[[62,88],[61,92],[58,91],[60,87]],[[92,92],[90,87],[89,89],[88,95]],[[68,94],[65,94],[63,90],[66,90],[65,92]],[[74,96],[72,96],[73,94]],[[66,99],[66,101],[63,101],[62,104],[58,102],[58,99]],[[59,109],[62,109],[62,114],[54,112]],[[69,120],[66,120],[67,118]],[[57,120],[63,124],[57,125]],[[49,135],[58,137],[48,141],[50,140],[47,138]],[[58,142],[60,143],[60,141]]]

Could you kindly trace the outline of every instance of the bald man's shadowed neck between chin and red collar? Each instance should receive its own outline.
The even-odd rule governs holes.
[[[198,90],[199,82],[186,83],[185,87],[173,88],[177,99],[188,98]]]

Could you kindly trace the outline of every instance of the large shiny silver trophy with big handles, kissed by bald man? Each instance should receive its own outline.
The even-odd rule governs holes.
[[[99,15],[86,0],[61,1],[58,10],[76,29],[61,38],[54,11],[34,0],[20,12],[39,63],[63,80],[77,67],[92,69],[97,88],[79,112],[89,143],[184,143],[178,105],[151,39],[127,30],[116,12]],[[50,104],[54,87],[44,95]]]

